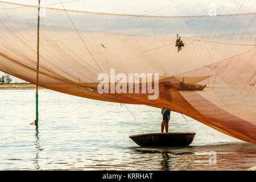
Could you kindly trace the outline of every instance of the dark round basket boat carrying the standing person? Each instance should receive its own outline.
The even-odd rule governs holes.
[[[148,133],[129,136],[141,147],[189,146],[196,133]]]

